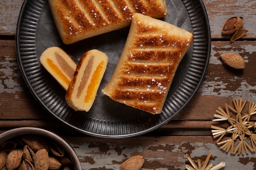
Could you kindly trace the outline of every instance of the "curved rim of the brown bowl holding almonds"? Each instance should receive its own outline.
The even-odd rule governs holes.
[[[69,155],[69,157],[73,163],[74,169],[82,170],[79,159],[78,159],[76,153],[74,152],[73,148],[69,144],[67,144],[67,142],[64,139],[62,139],[61,137],[59,137],[58,135],[54,134],[53,132],[41,129],[41,128],[24,127],[24,128],[15,128],[15,129],[3,132],[2,134],[0,134],[0,147],[6,141],[8,141],[12,138],[15,138],[15,137],[18,137],[21,135],[29,135],[29,134],[41,135],[43,137],[46,137],[46,138],[56,141],[58,144],[60,144],[65,149],[66,153]]]

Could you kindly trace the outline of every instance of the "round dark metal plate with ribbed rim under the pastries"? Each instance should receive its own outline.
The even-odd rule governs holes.
[[[58,35],[47,0],[25,0],[18,20],[18,62],[31,93],[54,117],[87,135],[131,137],[166,124],[186,107],[198,91],[207,71],[211,50],[209,22],[202,0],[166,2],[168,16],[162,20],[192,32],[194,41],[177,69],[163,113],[145,113],[101,93],[115,70],[129,27],[66,45]],[[68,107],[65,91],[40,64],[40,55],[52,46],[61,47],[76,63],[90,49],[103,51],[109,57],[107,70],[89,112],[75,112]]]

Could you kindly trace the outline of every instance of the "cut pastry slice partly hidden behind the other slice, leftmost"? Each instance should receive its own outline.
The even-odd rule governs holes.
[[[40,56],[45,69],[67,91],[76,70],[76,63],[59,47],[50,47]]]

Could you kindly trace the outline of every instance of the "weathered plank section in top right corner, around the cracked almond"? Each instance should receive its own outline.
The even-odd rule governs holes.
[[[233,16],[242,17],[244,29],[248,33],[243,38],[256,37],[255,0],[203,0],[206,8],[212,38],[231,38],[231,35],[222,35],[221,30],[226,20]]]

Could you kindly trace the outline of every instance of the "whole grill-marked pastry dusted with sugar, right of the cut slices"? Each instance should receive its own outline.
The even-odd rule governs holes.
[[[115,72],[102,90],[111,99],[152,114],[162,112],[193,34],[135,13]]]

